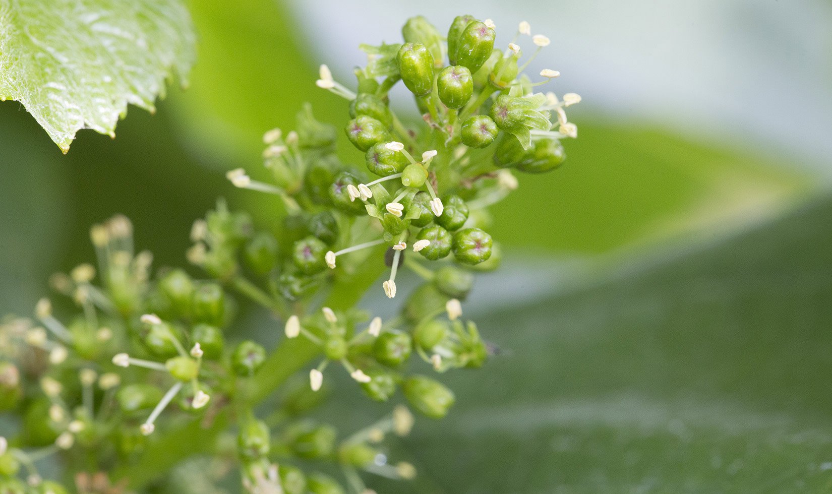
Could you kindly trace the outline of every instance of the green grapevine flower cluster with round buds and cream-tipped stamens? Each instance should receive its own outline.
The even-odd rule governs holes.
[[[523,73],[547,37],[531,36],[522,22],[500,49],[495,29],[459,16],[443,36],[411,18],[403,43],[361,47],[368,62],[354,71],[355,91],[321,66],[317,86],[349,102],[340,136],[359,152],[339,153],[339,131],[309,105],[294,131],[266,132],[265,170],[254,175],[268,178],[238,169],[228,179],[275,195],[277,221],[256,227],[220,200],[194,223],[187,252],[210,279],[184,269],[154,273],[124,217],[93,227],[97,267],[52,278],[77,314],[57,318],[42,299],[33,320],[0,326],[0,409],[23,417],[16,436],[0,437],[0,492],[67,492],[42,480],[36,465],[67,450],[88,453],[63,455],[67,471],[98,472],[77,477],[81,492],[91,483],[109,490],[101,472],[113,467],[135,482],[131,465],[152,461],[148,448],[189,422],[206,437],[216,432],[219,440],[195,449],[239,465],[250,492],[345,492],[317,467],[310,472],[314,462],[338,467],[349,492],[369,492],[359,472],[413,478],[408,462],[388,462],[387,438],[410,431],[411,409],[440,418],[453,407],[453,392],[428,373],[478,368],[488,358],[477,325],[463,319],[474,273],[501,258],[486,232],[488,206],[518,188],[515,172],[561,165],[561,141],[577,136],[564,109],[580,97],[533,91],[555,71],[543,70],[537,82]],[[521,37],[535,47],[525,62]],[[414,96],[418,125],[389,104],[399,82]],[[355,306],[371,285],[396,298],[403,269],[421,281],[403,287],[398,315],[383,320]],[[279,319],[275,331],[282,327],[281,344],[293,350],[235,338],[232,293]],[[270,377],[305,366],[300,384]],[[324,372],[336,366],[374,401],[399,402],[392,414],[341,439],[311,420],[330,386]],[[257,417],[264,408],[255,405],[281,383],[279,405]],[[231,454],[223,432],[236,437]]]

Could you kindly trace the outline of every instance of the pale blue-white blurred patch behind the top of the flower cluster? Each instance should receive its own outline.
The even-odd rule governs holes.
[[[305,2],[295,18],[336,77],[352,82],[364,64],[357,46],[400,42],[418,13],[445,32],[454,16],[491,17],[498,45],[519,21],[552,45],[530,73],[552,68],[551,85],[575,91],[587,111],[611,121],[670,128],[832,178],[832,2],[694,0],[667,2]],[[508,32],[507,32],[508,30]],[[503,35],[501,36],[501,33]],[[532,52],[529,40],[522,43]]]

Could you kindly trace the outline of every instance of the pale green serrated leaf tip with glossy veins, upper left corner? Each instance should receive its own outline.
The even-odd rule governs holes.
[[[20,101],[66,153],[82,128],[114,136],[128,103],[153,111],[195,44],[181,0],[0,0],[0,101]]]

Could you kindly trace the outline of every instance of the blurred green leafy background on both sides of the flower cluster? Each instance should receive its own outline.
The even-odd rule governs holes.
[[[193,2],[191,86],[154,116],[131,109],[115,141],[82,131],[62,156],[17,103],[0,104],[0,312],[31,312],[49,274],[92,258],[89,226],[115,213],[157,266],[185,264],[191,222],[219,196],[265,224],[274,200],[234,190],[225,170],[257,176],[263,131],[290,128],[303,101],[344,121],[346,103],[314,87],[325,53],[285,6],[227,5]],[[420,419],[396,451],[423,473],[414,486],[369,484],[832,492],[825,180],[751,143],[713,146],[598,108],[570,119],[580,138],[562,170],[520,177],[494,210],[508,255],[468,315],[501,353],[448,375],[458,407]],[[339,384],[322,417],[349,431],[384,412]]]

